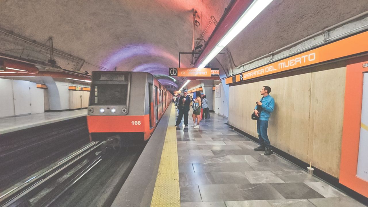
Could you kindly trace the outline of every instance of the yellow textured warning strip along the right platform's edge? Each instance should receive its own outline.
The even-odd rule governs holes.
[[[171,107],[151,207],[180,207],[178,150],[174,124],[175,107]]]

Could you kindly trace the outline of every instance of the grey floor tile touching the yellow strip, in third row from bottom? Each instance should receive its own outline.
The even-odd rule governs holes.
[[[179,173],[180,186],[216,184],[210,173],[183,172]]]

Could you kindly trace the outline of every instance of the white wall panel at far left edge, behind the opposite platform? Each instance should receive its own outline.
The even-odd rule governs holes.
[[[14,116],[12,80],[0,78],[0,117]]]

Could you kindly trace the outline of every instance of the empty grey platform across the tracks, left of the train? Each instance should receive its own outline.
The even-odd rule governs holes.
[[[86,115],[87,109],[80,109],[62,112],[45,112],[22,116],[4,117],[0,118],[0,134],[6,134],[22,129],[28,129],[54,122],[74,119]]]

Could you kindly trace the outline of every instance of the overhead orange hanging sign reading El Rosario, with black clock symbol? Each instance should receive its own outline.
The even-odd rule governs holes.
[[[184,67],[170,67],[169,76],[180,77],[213,77],[220,76],[218,68],[184,68]]]

